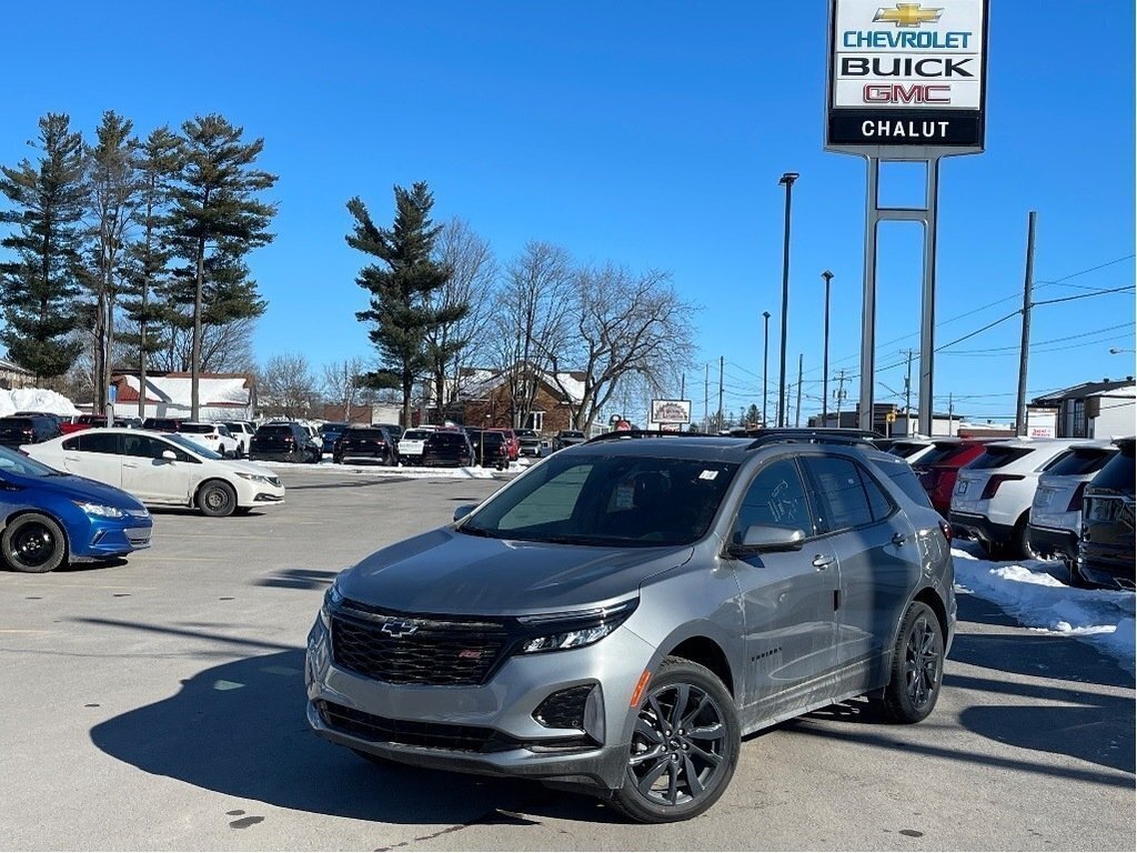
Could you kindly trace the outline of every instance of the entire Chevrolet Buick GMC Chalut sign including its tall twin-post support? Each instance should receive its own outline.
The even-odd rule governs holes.
[[[936,213],[939,160],[984,150],[987,0],[830,0],[825,150],[866,160],[862,429],[872,429],[877,345],[877,234],[882,220],[921,222],[921,433],[931,434],[936,350]],[[880,164],[923,162],[922,207],[881,207]]]

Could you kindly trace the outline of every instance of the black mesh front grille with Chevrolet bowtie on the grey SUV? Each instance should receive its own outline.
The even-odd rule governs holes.
[[[332,613],[332,657],[392,685],[480,685],[509,635],[500,622],[375,613],[345,602]]]

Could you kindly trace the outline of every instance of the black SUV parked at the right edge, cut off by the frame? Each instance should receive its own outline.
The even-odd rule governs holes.
[[[1089,481],[1081,503],[1079,579],[1093,586],[1134,589],[1132,436],[1114,441],[1115,453]]]

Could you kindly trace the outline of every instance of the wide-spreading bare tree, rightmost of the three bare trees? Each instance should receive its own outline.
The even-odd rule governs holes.
[[[584,374],[583,395],[570,403],[573,424],[587,430],[623,381],[638,375],[653,391],[672,384],[695,350],[691,317],[697,306],[682,301],[662,272],[633,274],[612,264],[578,272],[572,318],[561,346],[537,343],[551,379],[572,366]]]

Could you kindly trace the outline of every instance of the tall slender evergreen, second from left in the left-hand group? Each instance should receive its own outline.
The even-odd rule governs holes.
[[[97,143],[86,148],[92,224],[90,266],[84,279],[94,297],[96,411],[107,405],[115,346],[115,303],[125,273],[124,246],[142,189],[136,163],[134,123],[114,110],[102,114]]]

